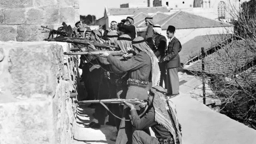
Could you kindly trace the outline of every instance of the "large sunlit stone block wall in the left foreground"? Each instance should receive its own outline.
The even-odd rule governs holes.
[[[0,144],[70,144],[79,74],[69,48],[0,42]]]

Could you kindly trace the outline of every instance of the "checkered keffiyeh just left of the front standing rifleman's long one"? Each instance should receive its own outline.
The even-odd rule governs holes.
[[[129,50],[132,50],[132,38],[128,34],[123,34],[120,36],[116,43],[120,47],[121,51],[126,53]]]

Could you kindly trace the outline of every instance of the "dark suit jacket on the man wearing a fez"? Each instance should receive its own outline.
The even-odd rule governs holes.
[[[182,49],[180,41],[174,37],[168,44],[166,50],[167,68],[176,68],[181,66],[179,52]]]

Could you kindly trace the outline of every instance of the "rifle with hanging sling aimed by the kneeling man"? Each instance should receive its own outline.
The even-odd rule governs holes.
[[[114,98],[114,99],[106,99],[106,100],[82,100],[82,101],[77,101],[75,100],[75,103],[78,104],[102,104],[102,106],[104,106],[111,114],[113,114],[108,107],[105,104],[123,104],[125,102],[128,102],[130,104],[144,104],[145,102],[141,102],[139,99],[137,98],[133,98],[133,99],[118,99],[118,98]],[[141,117],[143,114],[145,114],[146,110],[148,109],[148,105],[146,106],[146,108],[144,109],[144,111],[139,115],[139,117]],[[114,115],[114,114],[113,114]],[[116,118],[119,118],[118,116],[114,115]],[[122,118],[119,118],[121,120],[125,120]],[[125,121],[130,121],[130,120],[125,120]]]

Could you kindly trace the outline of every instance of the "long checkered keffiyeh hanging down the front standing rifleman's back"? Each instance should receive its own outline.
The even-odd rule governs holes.
[[[139,50],[146,52],[146,54],[148,54],[148,56],[150,57],[152,86],[158,86],[160,82],[160,69],[158,66],[158,60],[154,52],[148,46],[146,40],[144,40],[144,38],[142,38],[141,36],[134,38],[134,40],[132,40],[132,45],[138,48]]]

